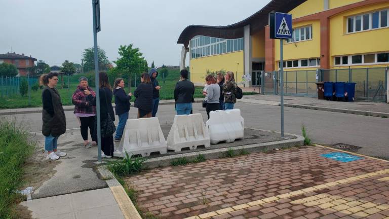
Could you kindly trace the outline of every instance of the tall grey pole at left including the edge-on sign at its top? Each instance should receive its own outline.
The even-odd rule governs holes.
[[[92,0],[93,9],[93,48],[95,52],[95,85],[96,85],[96,122],[97,122],[97,157],[101,163],[101,126],[100,126],[100,92],[99,92],[99,59],[97,56],[97,32],[100,31],[100,0]]]

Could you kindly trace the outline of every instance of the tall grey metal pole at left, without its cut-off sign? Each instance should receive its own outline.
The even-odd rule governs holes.
[[[97,57],[97,21],[95,0],[92,0],[93,8],[93,47],[95,50],[95,85],[96,85],[96,120],[97,120],[97,157],[101,162],[101,128],[100,128],[100,92],[99,92],[99,61]]]

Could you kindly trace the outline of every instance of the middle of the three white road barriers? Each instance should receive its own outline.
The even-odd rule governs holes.
[[[203,116],[201,114],[175,116],[168,135],[168,150],[174,152],[180,152],[183,148],[194,150],[199,145],[211,147]]]

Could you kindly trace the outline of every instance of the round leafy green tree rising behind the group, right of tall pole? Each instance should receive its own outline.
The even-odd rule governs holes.
[[[132,44],[128,46],[120,45],[119,47],[119,55],[120,57],[113,61],[116,64],[116,68],[118,70],[122,70],[124,75],[127,75],[129,87],[131,86],[132,75],[136,77],[141,72],[143,72],[147,67],[147,62],[142,57],[142,53],[139,52],[139,48],[133,48]]]

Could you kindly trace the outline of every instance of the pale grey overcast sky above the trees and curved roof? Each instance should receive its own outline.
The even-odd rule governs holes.
[[[120,45],[138,47],[149,65],[179,65],[177,39],[190,24],[228,25],[270,0],[101,0],[98,45],[110,61]],[[81,63],[93,46],[92,0],[0,0],[0,54],[32,55],[49,65]]]

